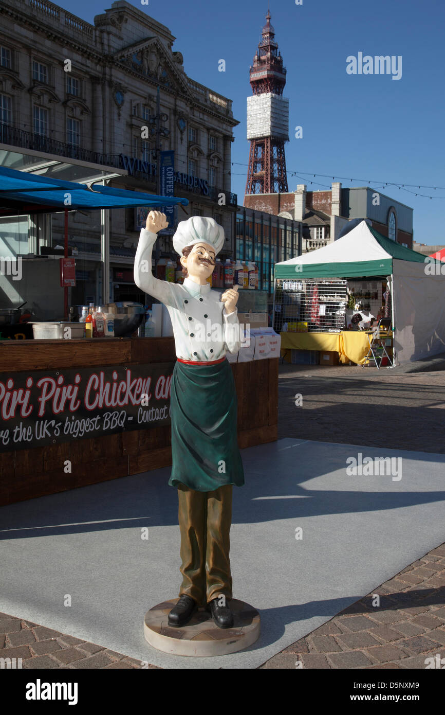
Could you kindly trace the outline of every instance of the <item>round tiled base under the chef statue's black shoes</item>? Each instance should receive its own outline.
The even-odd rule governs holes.
[[[158,651],[175,656],[226,656],[243,651],[259,638],[259,612],[249,603],[230,602],[234,614],[232,628],[216,626],[209,611],[199,608],[186,626],[169,626],[169,612],[179,598],[163,601],[150,608],[144,616],[144,636],[146,641]]]

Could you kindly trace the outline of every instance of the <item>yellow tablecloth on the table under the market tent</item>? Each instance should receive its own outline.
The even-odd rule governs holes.
[[[328,350],[338,352],[341,363],[363,365],[368,354],[366,332],[342,330],[338,332],[281,332],[282,350]]]

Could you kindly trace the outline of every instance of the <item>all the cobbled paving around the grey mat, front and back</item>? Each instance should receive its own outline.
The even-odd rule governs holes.
[[[437,411],[445,408],[445,371],[429,370],[280,365],[279,439],[445,454],[444,413]],[[294,669],[301,661],[313,669],[424,669],[425,659],[441,651],[444,657],[445,543],[260,667]],[[0,658],[38,669],[147,667],[6,613],[0,613]]]

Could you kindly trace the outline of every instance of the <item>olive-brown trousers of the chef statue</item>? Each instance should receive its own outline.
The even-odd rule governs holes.
[[[232,598],[230,573],[231,484],[200,492],[178,485],[181,574],[179,596],[206,606],[212,598]]]

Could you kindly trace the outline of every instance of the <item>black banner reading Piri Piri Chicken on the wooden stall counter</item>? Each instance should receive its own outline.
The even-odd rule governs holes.
[[[169,425],[173,368],[10,373],[0,381],[0,452]]]

